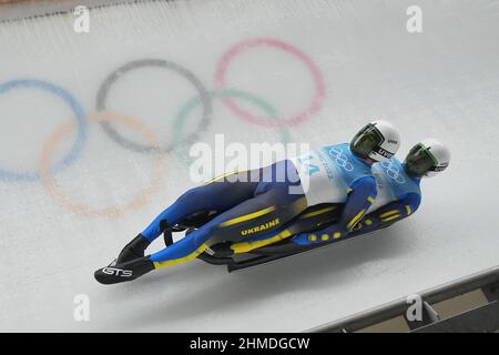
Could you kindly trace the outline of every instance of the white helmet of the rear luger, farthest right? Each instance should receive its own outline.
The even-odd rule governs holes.
[[[449,166],[450,151],[441,142],[427,139],[413,146],[406,156],[406,172],[415,178],[431,178]]]

